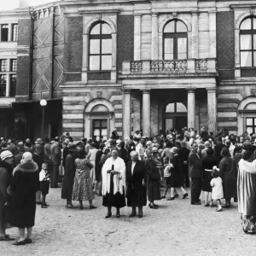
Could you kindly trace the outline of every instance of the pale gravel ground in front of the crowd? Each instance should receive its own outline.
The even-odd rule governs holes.
[[[38,207],[32,244],[15,247],[2,241],[0,255],[256,255],[256,236],[242,232],[236,203],[215,212],[203,204],[191,206],[189,198],[161,200],[157,210],[144,207],[143,218],[129,218],[131,209],[125,207],[121,218],[113,211],[105,219],[102,197],[96,195],[95,210],[88,202],[84,210],[79,202],[67,209],[60,198],[61,189],[51,189],[49,208]],[[15,228],[7,233],[18,237]]]

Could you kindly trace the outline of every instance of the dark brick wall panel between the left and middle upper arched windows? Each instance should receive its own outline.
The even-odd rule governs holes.
[[[117,29],[118,71],[122,70],[123,61],[132,61],[134,55],[134,17],[119,15]]]

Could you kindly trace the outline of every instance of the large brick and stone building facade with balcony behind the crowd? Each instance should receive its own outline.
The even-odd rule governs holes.
[[[22,4],[13,111],[31,137],[43,98],[49,137],[255,131],[256,1]]]

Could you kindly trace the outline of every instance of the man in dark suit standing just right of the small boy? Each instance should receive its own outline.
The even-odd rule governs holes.
[[[58,187],[59,179],[59,168],[61,165],[61,147],[60,147],[60,137],[55,137],[55,142],[50,145],[50,154],[52,160],[52,173],[50,174],[50,187]]]

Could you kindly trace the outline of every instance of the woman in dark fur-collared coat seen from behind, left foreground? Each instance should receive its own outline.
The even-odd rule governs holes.
[[[15,167],[11,184],[11,204],[9,224],[18,227],[20,239],[15,245],[32,242],[32,227],[35,224],[36,192],[39,189],[38,165],[32,160],[32,154],[22,155],[20,165]],[[25,236],[25,229],[27,236]]]

